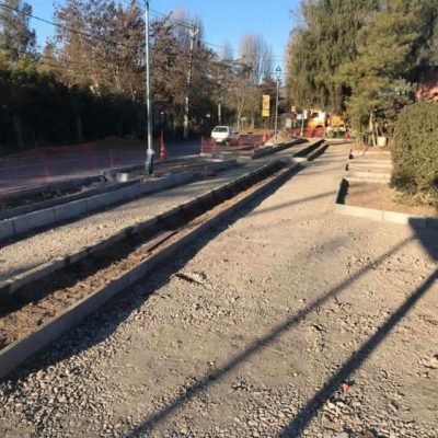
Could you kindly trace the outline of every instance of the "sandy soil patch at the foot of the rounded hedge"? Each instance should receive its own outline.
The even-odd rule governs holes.
[[[357,207],[438,217],[438,210],[428,206],[410,206],[394,200],[397,192],[387,184],[349,182],[345,204]]]

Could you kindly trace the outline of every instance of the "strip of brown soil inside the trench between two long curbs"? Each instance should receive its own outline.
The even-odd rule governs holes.
[[[280,172],[287,171],[287,169],[283,169]],[[154,247],[152,244],[149,250],[145,250],[141,245],[145,242],[145,235],[138,234],[136,238],[117,242],[112,247],[94,253],[92,257],[84,258],[20,288],[13,297],[2,300],[0,304],[0,350],[34,333],[43,324],[58,318],[71,306],[103,289],[110,283],[120,278],[122,275],[126,275],[157,252],[165,251],[175,241],[183,239],[205,221],[230,208],[231,205],[245,198],[274,177],[275,174],[255,182],[247,189],[210,209],[206,211],[203,209],[204,212],[198,210],[198,216],[188,222],[184,221],[186,218],[180,218],[184,221],[181,223],[181,229],[175,226],[174,233],[166,237],[159,247]],[[146,242],[149,239],[146,238]],[[152,240],[157,239],[155,235]]]

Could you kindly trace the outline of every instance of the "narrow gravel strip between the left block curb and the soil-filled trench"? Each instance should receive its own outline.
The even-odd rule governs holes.
[[[306,145],[300,145],[276,155],[292,157],[297,150],[304,147]],[[43,263],[57,257],[65,257],[99,243],[126,227],[146,221],[175,205],[199,196],[273,160],[275,160],[274,155],[267,155],[258,160],[247,160],[244,165],[231,168],[214,177],[146,196],[88,216],[81,220],[55,227],[15,243],[0,246],[0,281],[4,281]]]

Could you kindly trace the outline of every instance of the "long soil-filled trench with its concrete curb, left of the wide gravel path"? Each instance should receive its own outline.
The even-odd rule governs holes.
[[[300,164],[277,160],[136,227],[0,303],[0,378]]]

